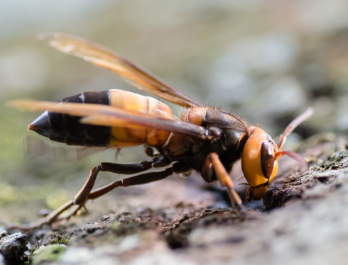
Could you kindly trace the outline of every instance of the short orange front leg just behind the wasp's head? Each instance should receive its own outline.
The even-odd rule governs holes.
[[[227,188],[227,193],[229,194],[229,199],[231,200],[232,208],[236,210],[240,210],[241,208],[243,208],[241,198],[239,197],[238,193],[236,193],[236,191],[234,190],[234,185],[231,176],[229,176],[229,174],[227,173],[217,153],[214,152],[208,154],[207,158],[205,159],[205,164],[203,164],[201,172],[203,179],[210,178],[209,176],[212,174],[212,168],[214,169],[215,174],[217,175],[217,179],[219,180],[221,186]]]

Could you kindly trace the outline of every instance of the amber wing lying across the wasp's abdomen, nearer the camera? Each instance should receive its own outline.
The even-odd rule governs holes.
[[[136,111],[125,111],[107,105],[89,103],[55,103],[49,101],[11,101],[11,106],[30,111],[52,111],[83,117],[80,122],[90,125],[102,125],[126,128],[153,128],[173,133],[180,133],[210,140],[209,131],[199,125],[187,123],[182,120],[158,118],[155,115]]]

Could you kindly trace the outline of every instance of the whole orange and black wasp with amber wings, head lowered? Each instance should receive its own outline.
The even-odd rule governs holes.
[[[276,143],[258,125],[249,126],[238,115],[203,106],[102,45],[64,33],[48,33],[43,38],[50,38],[50,45],[60,52],[109,69],[138,89],[178,104],[185,111],[180,118],[175,118],[169,106],[155,98],[116,89],[86,91],[63,98],[58,103],[13,102],[17,108],[45,111],[28,126],[28,130],[52,141],[84,147],[146,145],[146,154],[151,157],[139,163],[102,162],[93,167],[72,200],[32,227],[70,218],[88,200],[103,196],[119,186],[147,184],[192,169],[199,172],[207,183],[219,181],[226,188],[232,207],[241,210],[242,200],[229,176],[236,161],[241,159],[249,184],[249,197],[256,199],[261,198],[271,185],[278,171],[278,159],[283,155],[306,166],[299,154],[283,151],[282,147],[286,137],[312,115],[311,108],[295,118]],[[153,168],[161,170],[150,171]],[[99,171],[133,176],[93,189]],[[76,210],[62,217],[62,213],[72,205],[77,205]]]

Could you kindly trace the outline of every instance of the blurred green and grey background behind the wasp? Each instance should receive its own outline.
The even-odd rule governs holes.
[[[291,149],[314,133],[348,131],[347,13],[345,0],[1,1],[0,222],[35,220],[41,208],[74,196],[89,169],[115,160],[114,150],[77,160],[26,155],[26,139],[34,136],[26,128],[40,113],[17,111],[6,101],[58,101],[88,90],[138,93],[111,72],[38,41],[39,33],[70,33],[110,47],[275,138],[312,106],[315,115],[289,137]],[[180,108],[170,106],[178,115]],[[145,159],[142,148],[135,150],[117,160]],[[98,186],[114,178],[104,174]]]

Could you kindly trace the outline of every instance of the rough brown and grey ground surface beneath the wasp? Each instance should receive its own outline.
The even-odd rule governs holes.
[[[148,208],[115,211],[87,222],[91,215],[80,216],[26,235],[4,232],[0,264],[346,264],[347,145],[346,137],[332,134],[303,142],[299,152],[309,169],[301,172],[291,160],[284,161],[263,207],[249,203],[242,213],[219,208],[226,206],[219,189],[211,205],[209,196],[199,203],[192,194],[211,192],[200,184],[194,188],[172,181],[169,189],[180,198],[169,205],[161,202],[168,190],[156,186],[160,202],[146,201]],[[148,193],[153,199],[151,188]],[[12,252],[4,251],[4,238],[17,245]]]

